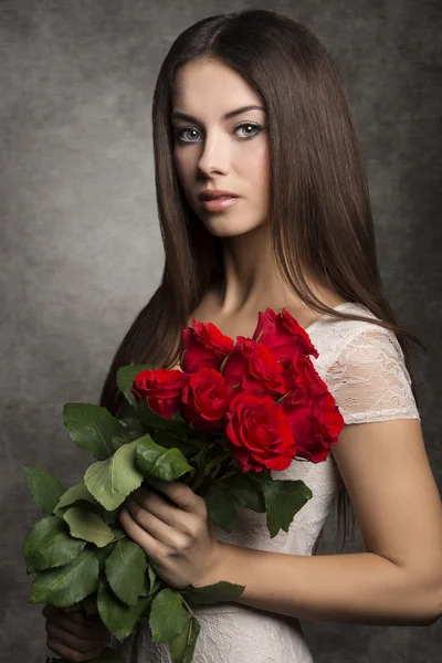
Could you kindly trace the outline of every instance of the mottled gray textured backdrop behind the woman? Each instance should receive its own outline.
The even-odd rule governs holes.
[[[20,464],[78,481],[88,460],[67,436],[63,403],[97,402],[117,344],[160,278],[149,117],[160,63],[191,23],[259,7],[306,22],[346,83],[387,292],[430,348],[417,365],[420,409],[442,485],[441,3],[0,0],[1,662],[45,653],[22,559],[40,512]],[[320,551],[337,551],[332,519],[326,533]],[[358,533],[346,551],[359,550]],[[302,623],[315,663],[441,656],[442,620]]]

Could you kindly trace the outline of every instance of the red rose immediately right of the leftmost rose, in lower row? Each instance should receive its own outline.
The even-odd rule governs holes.
[[[190,373],[182,392],[182,417],[197,430],[222,430],[232,396],[231,387],[214,368],[201,368]]]

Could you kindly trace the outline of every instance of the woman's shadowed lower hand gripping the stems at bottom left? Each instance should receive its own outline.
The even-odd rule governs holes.
[[[101,619],[82,611],[64,612],[48,603],[42,610],[46,618],[46,645],[66,661],[91,661],[110,641],[110,633]]]

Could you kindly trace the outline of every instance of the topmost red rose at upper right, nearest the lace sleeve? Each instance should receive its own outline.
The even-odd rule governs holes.
[[[272,308],[260,312],[252,338],[263,343],[284,368],[294,354],[319,356],[306,330],[286,308],[278,314]]]

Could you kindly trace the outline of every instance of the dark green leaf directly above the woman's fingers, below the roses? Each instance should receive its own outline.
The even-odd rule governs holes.
[[[194,472],[179,449],[159,446],[148,434],[138,440],[136,463],[144,474],[164,481],[176,481],[186,472]]]

